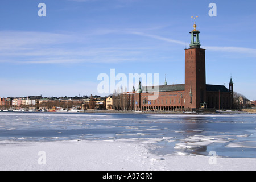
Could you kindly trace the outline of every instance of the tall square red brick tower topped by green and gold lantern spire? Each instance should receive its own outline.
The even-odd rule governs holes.
[[[196,23],[191,34],[191,44],[185,49],[185,108],[206,107],[205,49],[200,48]]]

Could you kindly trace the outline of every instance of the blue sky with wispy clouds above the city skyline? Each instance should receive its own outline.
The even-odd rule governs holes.
[[[38,16],[39,3],[46,17]],[[255,9],[254,0],[1,1],[0,97],[99,94],[97,77],[110,69],[183,84],[191,16],[199,16],[207,84],[228,87],[232,75],[234,91],[256,100]]]

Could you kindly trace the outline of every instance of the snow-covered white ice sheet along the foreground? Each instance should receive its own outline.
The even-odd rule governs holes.
[[[57,141],[57,142],[0,142],[0,170],[252,170],[256,158],[218,158],[212,156],[159,156],[148,150],[147,144],[128,141]],[[45,164],[39,159],[43,151]]]

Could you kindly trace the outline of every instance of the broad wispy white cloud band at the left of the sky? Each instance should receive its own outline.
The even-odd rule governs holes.
[[[136,61],[142,48],[104,47],[93,45],[92,36],[113,31],[102,30],[94,34],[54,34],[46,32],[1,32],[0,62],[15,64],[61,63],[120,63]],[[133,56],[131,56],[133,55]]]

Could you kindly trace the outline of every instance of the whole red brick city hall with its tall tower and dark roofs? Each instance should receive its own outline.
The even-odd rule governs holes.
[[[206,84],[205,79],[205,49],[200,48],[199,34],[196,24],[193,25],[191,43],[185,49],[185,84],[172,84],[158,86],[142,86],[139,82],[138,89],[122,93],[126,100],[123,107],[126,110],[137,111],[193,111],[202,108],[233,108],[233,81],[230,78],[229,89],[224,85]],[[158,92],[158,97],[150,100]]]

